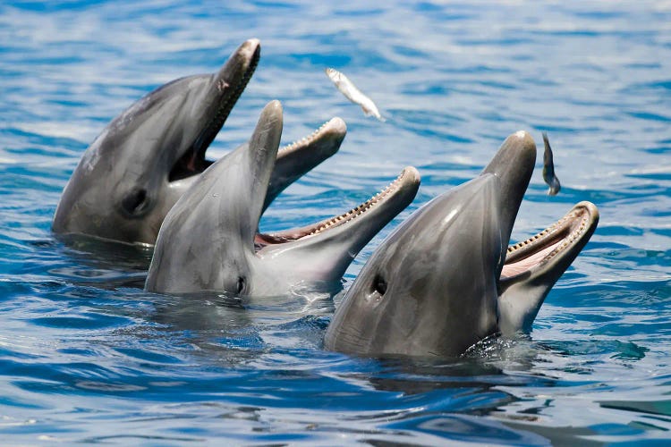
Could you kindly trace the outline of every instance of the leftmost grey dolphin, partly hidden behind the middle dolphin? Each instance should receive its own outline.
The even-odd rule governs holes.
[[[167,212],[211,161],[210,143],[259,63],[260,43],[242,43],[214,74],[173,80],[110,122],[81,157],[55,210],[57,234],[153,244]],[[278,152],[265,206],[332,156],[344,139],[334,118]]]

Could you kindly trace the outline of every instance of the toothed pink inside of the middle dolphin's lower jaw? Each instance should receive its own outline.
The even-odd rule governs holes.
[[[404,200],[407,194],[411,190],[414,194],[414,189],[416,189],[419,181],[420,174],[414,167],[408,166],[403,169],[403,172],[395,181],[389,183],[384,190],[362,202],[358,207],[353,207],[342,215],[335,215],[329,219],[324,219],[301,228],[281,232],[257,233],[254,239],[254,247],[259,252],[259,250],[268,246],[324,235],[327,232],[334,231],[336,228],[344,230],[348,225],[351,225],[355,221],[361,221],[362,218],[373,214],[378,209],[385,212],[386,210],[382,208],[399,207],[401,202],[403,202],[401,207],[405,207]]]

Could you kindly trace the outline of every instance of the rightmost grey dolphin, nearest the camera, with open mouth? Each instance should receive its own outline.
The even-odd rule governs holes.
[[[581,202],[507,247],[536,145],[518,131],[479,177],[431,200],[376,249],[336,309],[325,346],[365,356],[459,356],[480,340],[530,331],[543,300],[594,232]]]

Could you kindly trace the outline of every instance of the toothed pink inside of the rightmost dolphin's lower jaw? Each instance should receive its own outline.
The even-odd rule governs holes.
[[[499,283],[502,287],[533,274],[565,255],[577,256],[599,221],[599,210],[580,202],[564,217],[527,240],[507,249]],[[573,260],[573,258],[571,259]]]

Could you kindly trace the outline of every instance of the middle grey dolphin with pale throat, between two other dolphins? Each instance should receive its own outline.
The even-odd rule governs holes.
[[[340,286],[353,257],[417,193],[419,173],[405,168],[386,190],[344,215],[259,234],[282,122],[280,103],[269,103],[249,144],[212,164],[170,210],[158,234],[147,291],[258,297],[311,284]]]

